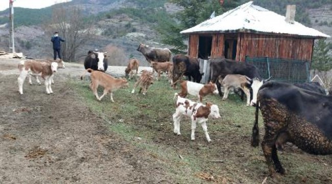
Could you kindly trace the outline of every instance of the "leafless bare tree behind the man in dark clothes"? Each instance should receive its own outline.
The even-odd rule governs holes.
[[[78,49],[92,40],[96,32],[92,20],[84,19],[82,8],[78,5],[65,7],[64,4],[53,9],[51,24],[46,30],[50,35],[57,31],[65,39],[61,54],[66,61],[76,61]]]

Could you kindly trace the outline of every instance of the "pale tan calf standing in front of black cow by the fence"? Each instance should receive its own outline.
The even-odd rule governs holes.
[[[219,76],[218,81],[225,88],[223,100],[226,100],[228,98],[230,87],[241,88],[247,96],[247,106],[249,106],[250,104],[249,87],[252,82],[252,80],[249,77],[238,74],[228,74],[225,76],[225,78],[221,78],[221,76]]]

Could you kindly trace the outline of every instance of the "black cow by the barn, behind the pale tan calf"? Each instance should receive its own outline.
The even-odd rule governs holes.
[[[236,62],[225,58],[214,59],[211,61],[210,77],[212,82],[216,82],[220,96],[222,96],[222,92],[220,88],[221,84],[217,82],[218,77],[221,76],[222,78],[225,78],[228,74],[239,74],[247,76],[250,79],[260,79],[258,69],[252,64]]]

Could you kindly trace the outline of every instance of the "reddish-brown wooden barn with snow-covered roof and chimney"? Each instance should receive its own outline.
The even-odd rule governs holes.
[[[328,35],[265,8],[243,4],[181,31],[189,35],[188,55],[201,59],[249,57],[312,60],[314,40]],[[293,12],[293,14],[292,14]]]

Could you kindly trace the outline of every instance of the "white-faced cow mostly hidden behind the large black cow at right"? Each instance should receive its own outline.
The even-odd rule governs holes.
[[[258,89],[260,88],[260,86],[262,86],[265,82],[268,82],[271,79],[271,77],[266,80],[260,80],[258,78],[255,78],[252,80],[252,84],[251,84],[252,100],[250,102],[251,106],[256,105],[257,93],[258,93]],[[315,91],[316,93],[326,95],[325,89],[318,82],[303,82],[303,83],[295,83],[294,85],[299,88],[302,88],[302,89]]]

